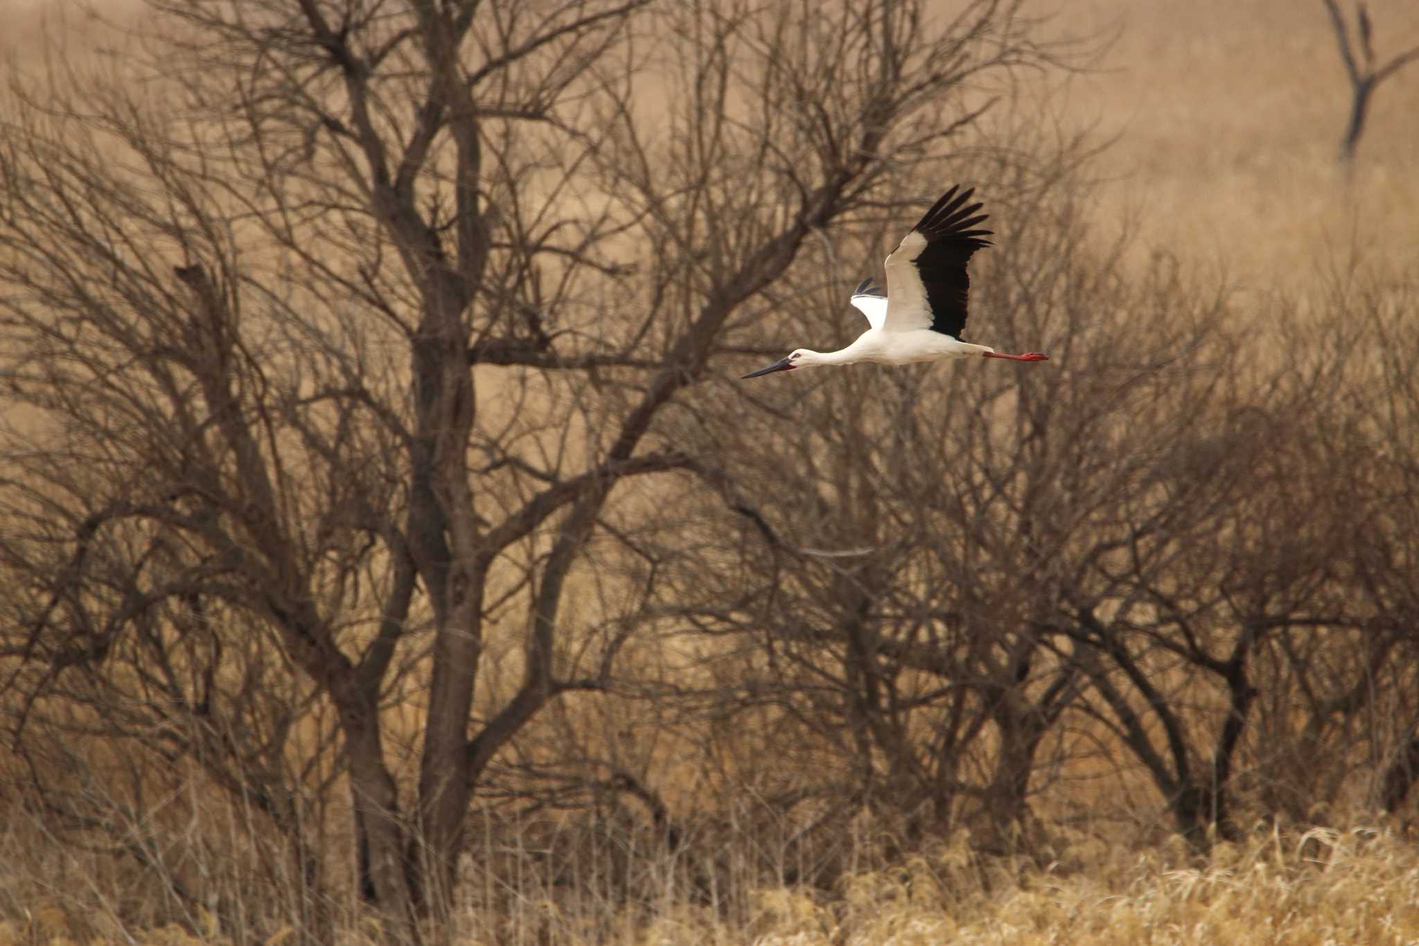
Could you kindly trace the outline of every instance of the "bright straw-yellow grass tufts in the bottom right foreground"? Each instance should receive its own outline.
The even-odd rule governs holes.
[[[1022,871],[964,845],[847,878],[830,903],[761,891],[753,942],[768,946],[928,943],[1415,943],[1419,852],[1386,831],[1259,833],[1182,864],[1183,845],[1100,851],[1076,869]],[[995,875],[995,877],[992,877]],[[704,928],[688,939],[725,939]]]

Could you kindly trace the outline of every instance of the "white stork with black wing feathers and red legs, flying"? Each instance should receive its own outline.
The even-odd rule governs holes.
[[[981,210],[979,203],[966,206],[975,189],[961,194],[958,190],[959,184],[948,190],[887,257],[885,295],[871,279],[858,284],[851,302],[867,316],[871,328],[856,342],[840,352],[797,349],[782,362],[744,377],[856,362],[910,365],[981,356],[1015,362],[1049,360],[1049,355],[1039,352],[1002,355],[986,345],[961,340],[971,292],[966,264],[972,252],[990,245],[985,237],[993,234],[990,230],[972,230],[988,216],[972,217]]]

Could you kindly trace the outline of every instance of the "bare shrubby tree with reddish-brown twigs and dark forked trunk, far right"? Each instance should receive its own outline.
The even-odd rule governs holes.
[[[1352,773],[1374,772],[1374,701],[1391,705],[1402,677],[1399,624],[1359,594],[1385,533],[1351,414],[1368,397],[1365,319],[1341,298],[1317,311],[1280,301],[1256,355],[1206,366],[1230,380],[1189,397],[1206,421],[1158,471],[1164,495],[1192,499],[1162,529],[1124,509],[1108,604],[1077,613],[1098,660],[1091,712],[1200,847],[1235,835],[1247,804],[1324,817]],[[1283,357],[1261,367],[1263,353]]]

